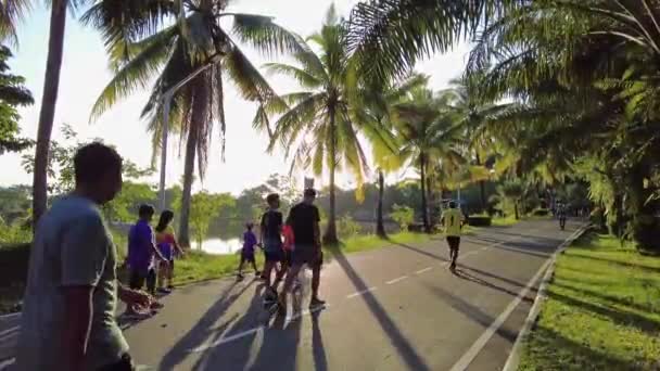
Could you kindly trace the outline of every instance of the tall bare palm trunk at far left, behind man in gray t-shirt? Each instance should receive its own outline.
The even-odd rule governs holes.
[[[46,62],[41,111],[39,112],[35,174],[33,179],[33,223],[35,231],[37,230],[37,222],[46,212],[48,203],[48,156],[50,136],[53,131],[55,105],[58,103],[58,90],[60,88],[67,2],[66,0],[55,0],[51,4],[48,57]]]

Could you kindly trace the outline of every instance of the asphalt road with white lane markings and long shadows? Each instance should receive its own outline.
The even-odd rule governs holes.
[[[523,221],[464,236],[458,274],[444,240],[340,255],[322,270],[328,306],[307,309],[306,276],[287,317],[264,310],[252,277],[195,284],[125,334],[151,370],[499,370],[550,254],[578,227]],[[0,369],[16,325],[0,319]]]

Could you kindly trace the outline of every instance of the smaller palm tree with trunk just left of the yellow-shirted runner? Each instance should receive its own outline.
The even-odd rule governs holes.
[[[396,110],[396,131],[402,148],[399,155],[417,167],[420,175],[422,222],[427,232],[429,221],[428,176],[436,164],[458,168],[465,159],[460,155],[456,117],[446,101],[427,88],[417,88]]]

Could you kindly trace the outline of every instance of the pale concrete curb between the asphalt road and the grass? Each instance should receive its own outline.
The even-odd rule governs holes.
[[[530,335],[532,328],[536,324],[536,320],[538,319],[538,315],[541,314],[541,306],[543,302],[547,297],[547,287],[548,284],[553,281],[555,277],[555,267],[557,265],[557,257],[568,248],[568,246],[573,243],[573,241],[578,240],[584,232],[588,230],[591,225],[586,223],[580,227],[573,234],[569,235],[566,241],[563,241],[558,247],[557,251],[550,257],[550,264],[542,278],[541,285],[538,286],[538,293],[534,298],[534,304],[530,309],[530,314],[525,319],[522,329],[518,333],[518,337],[516,337],[516,343],[513,343],[513,348],[511,348],[511,353],[509,353],[509,357],[507,358],[507,362],[505,363],[503,371],[517,371],[520,366],[520,355],[522,351],[522,345],[524,340]]]

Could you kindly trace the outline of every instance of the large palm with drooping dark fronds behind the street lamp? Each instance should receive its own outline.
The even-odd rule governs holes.
[[[189,216],[195,161],[203,179],[208,161],[214,123],[225,141],[224,81],[227,76],[240,94],[254,102],[278,102],[266,79],[250,62],[239,42],[248,43],[266,53],[296,50],[299,38],[272,22],[253,14],[226,12],[226,2],[193,1],[182,8],[167,0],[149,4],[145,11],[154,16],[140,21],[112,23],[113,12],[123,12],[100,4],[86,14],[85,20],[104,30],[111,64],[116,68],[92,110],[92,118],[109,110],[119,99],[147,87],[154,77],[155,85],[142,117],[153,132],[153,149],[157,151],[164,130],[162,121],[163,95],[193,72],[206,67],[174,93],[170,121],[178,124],[181,142],[186,141],[183,191],[180,210],[179,240],[189,245]],[[160,17],[155,17],[156,12]],[[233,28],[226,30],[220,20],[233,18]],[[167,24],[163,20],[178,22]],[[123,18],[120,18],[123,20]],[[132,23],[131,23],[132,22]],[[126,30],[138,29],[132,38],[118,37]],[[155,154],[154,154],[155,156]]]

